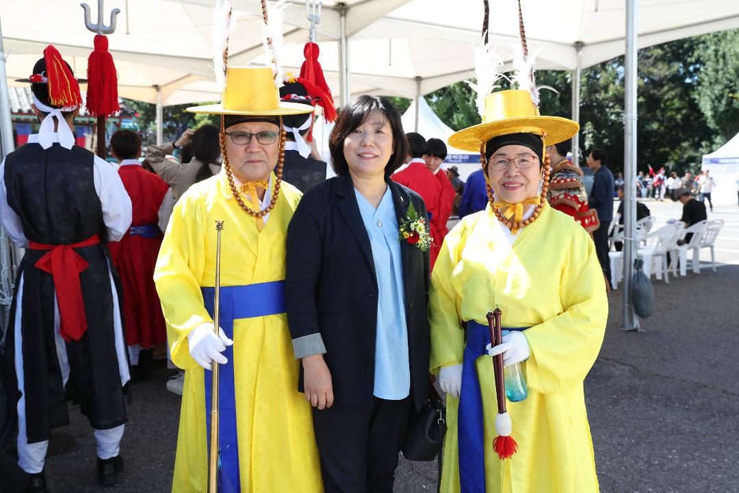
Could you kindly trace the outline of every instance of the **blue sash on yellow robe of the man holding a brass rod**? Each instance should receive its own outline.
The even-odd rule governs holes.
[[[201,288],[205,309],[211,317],[214,288]],[[228,339],[234,339],[234,320],[285,313],[285,281],[262,282],[246,286],[222,286],[219,325]],[[219,493],[239,492],[239,441],[236,431],[236,393],[234,390],[234,347],[226,347],[227,364],[219,365]],[[211,443],[211,381],[205,370],[205,429]]]

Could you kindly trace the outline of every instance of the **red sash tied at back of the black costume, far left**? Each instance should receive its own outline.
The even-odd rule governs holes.
[[[100,243],[98,235],[73,245],[44,245],[29,242],[30,250],[48,251],[35,263],[40,271],[50,273],[54,279],[54,290],[59,306],[59,333],[65,341],[78,341],[87,330],[85,305],[82,302],[80,273],[88,263],[74,248],[83,248]]]

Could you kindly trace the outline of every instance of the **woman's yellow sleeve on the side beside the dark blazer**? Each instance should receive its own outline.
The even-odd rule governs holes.
[[[464,331],[460,327],[461,300],[452,284],[452,273],[460,260],[466,221],[446,235],[431,275],[429,289],[429,327],[431,330],[431,373],[441,367],[460,364],[464,352]]]

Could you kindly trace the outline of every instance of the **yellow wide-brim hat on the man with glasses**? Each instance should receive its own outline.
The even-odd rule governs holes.
[[[312,113],[313,106],[280,101],[269,67],[228,67],[226,86],[218,104],[191,106],[191,113],[280,116]]]

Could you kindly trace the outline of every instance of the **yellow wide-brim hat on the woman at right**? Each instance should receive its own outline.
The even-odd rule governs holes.
[[[485,98],[483,123],[449,137],[449,145],[463,151],[480,152],[480,144],[500,135],[531,133],[544,136],[545,146],[573,137],[580,126],[573,120],[539,115],[531,93],[520,89],[493,92]]]

